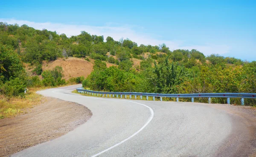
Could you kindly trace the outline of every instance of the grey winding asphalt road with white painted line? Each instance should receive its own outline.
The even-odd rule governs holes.
[[[241,157],[253,153],[255,122],[227,105],[110,99],[39,91],[76,102],[93,116],[68,134],[14,157]]]

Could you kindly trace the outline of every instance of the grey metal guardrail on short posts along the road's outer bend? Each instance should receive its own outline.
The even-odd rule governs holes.
[[[140,96],[140,99],[142,99],[142,96],[146,96],[146,99],[148,100],[148,96],[152,96],[153,100],[155,100],[155,97],[160,97],[160,101],[163,101],[163,97],[168,98],[176,98],[177,102],[179,101],[179,98],[191,98],[192,102],[194,102],[194,98],[208,98],[208,102],[211,103],[211,98],[227,98],[227,104],[230,104],[230,98],[241,98],[241,105],[244,105],[244,98],[250,98],[255,99],[256,93],[192,93],[192,94],[162,94],[162,93],[137,93],[137,92],[99,92],[99,91],[93,91],[93,90],[85,90],[83,87],[76,89],[79,93],[87,93],[90,95],[96,95],[97,96],[106,96],[109,95],[109,97],[116,97],[125,96],[125,99],[127,96],[135,96],[135,99],[137,99],[137,96]]]

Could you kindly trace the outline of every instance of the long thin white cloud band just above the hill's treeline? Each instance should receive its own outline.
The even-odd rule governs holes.
[[[72,25],[63,23],[38,23],[27,20],[15,20],[15,19],[1,19],[0,21],[7,22],[8,24],[23,25],[26,24],[35,29],[47,29],[50,31],[56,31],[58,34],[66,34],[67,36],[79,35],[81,31],[86,31],[91,35],[104,35],[104,37],[111,36],[114,40],[118,41],[120,38],[129,38],[131,41],[140,44],[159,45],[165,43],[167,47],[172,49],[197,49],[203,52],[204,55],[210,55],[212,53],[218,53],[224,55],[230,52],[231,47],[227,45],[215,45],[215,44],[198,44],[198,45],[186,45],[183,41],[175,40],[161,40],[154,38],[154,35],[142,34],[134,29],[136,26],[113,26],[113,23],[106,23],[104,26],[88,26],[88,25]],[[111,26],[112,25],[112,26]],[[143,28],[141,28],[143,29]]]

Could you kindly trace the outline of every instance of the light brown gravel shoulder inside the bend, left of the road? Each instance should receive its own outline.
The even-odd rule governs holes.
[[[92,116],[83,105],[44,97],[45,102],[14,118],[0,119],[0,157],[53,140]]]

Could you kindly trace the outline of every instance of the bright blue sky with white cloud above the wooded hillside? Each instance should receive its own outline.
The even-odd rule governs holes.
[[[256,2],[197,1],[0,1],[0,21],[59,34],[130,38],[138,44],[198,49],[205,55],[256,60]]]

